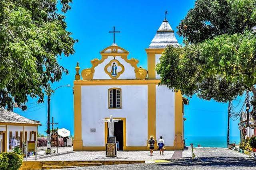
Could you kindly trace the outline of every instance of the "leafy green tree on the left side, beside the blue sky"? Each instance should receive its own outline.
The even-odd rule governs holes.
[[[58,63],[74,53],[72,33],[64,14],[72,0],[0,1],[0,106],[22,110],[28,96],[43,102],[48,82],[59,81],[68,70]]]

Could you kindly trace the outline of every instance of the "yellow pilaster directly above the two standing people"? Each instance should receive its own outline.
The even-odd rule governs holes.
[[[156,137],[156,85],[148,85],[148,139]]]

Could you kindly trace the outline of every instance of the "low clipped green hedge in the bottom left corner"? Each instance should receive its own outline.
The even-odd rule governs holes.
[[[0,170],[18,170],[22,161],[23,156],[14,152],[0,153]]]

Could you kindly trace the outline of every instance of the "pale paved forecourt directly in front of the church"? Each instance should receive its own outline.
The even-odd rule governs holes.
[[[190,157],[191,149],[185,151],[165,150],[164,155],[160,156],[160,152],[155,150],[153,156],[150,156],[150,151],[118,151],[117,158],[106,158],[105,151],[73,151],[72,147],[58,148],[56,154],[45,154],[46,148],[40,148],[38,151],[38,160],[165,160],[178,159],[182,157]],[[34,156],[28,158],[34,160]]]

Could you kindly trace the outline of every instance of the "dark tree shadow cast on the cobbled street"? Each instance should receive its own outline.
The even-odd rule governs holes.
[[[207,157],[195,158],[194,160],[171,160],[170,163],[157,164],[158,166],[243,166],[255,167],[256,161],[253,158],[238,158],[238,157]]]

